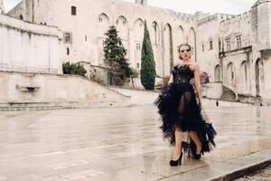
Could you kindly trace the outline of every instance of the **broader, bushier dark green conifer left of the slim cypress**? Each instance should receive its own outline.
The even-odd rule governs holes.
[[[126,59],[126,49],[117,35],[115,26],[110,26],[104,42],[104,61],[113,76],[130,77],[129,63]]]

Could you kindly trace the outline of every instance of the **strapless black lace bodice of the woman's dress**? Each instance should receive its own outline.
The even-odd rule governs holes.
[[[194,73],[188,64],[176,65],[173,67],[173,83],[190,83],[194,78]]]

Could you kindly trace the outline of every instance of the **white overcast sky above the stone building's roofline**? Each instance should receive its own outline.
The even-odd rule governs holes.
[[[88,1],[88,0],[86,0]],[[102,0],[99,0],[102,1]],[[135,2],[135,0],[122,0]],[[257,0],[148,0],[148,5],[173,9],[176,12],[194,14],[203,13],[242,14],[247,12]],[[3,0],[5,12],[21,0]]]

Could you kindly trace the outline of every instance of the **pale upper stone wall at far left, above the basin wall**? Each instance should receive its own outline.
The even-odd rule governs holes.
[[[61,73],[62,33],[0,14],[0,71]]]

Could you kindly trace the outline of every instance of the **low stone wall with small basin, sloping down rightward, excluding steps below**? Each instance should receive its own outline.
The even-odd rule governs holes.
[[[0,102],[124,101],[129,98],[75,75],[0,72]]]

